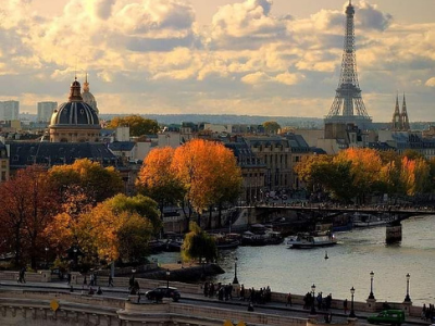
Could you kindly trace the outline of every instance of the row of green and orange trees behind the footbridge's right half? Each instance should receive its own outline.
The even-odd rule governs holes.
[[[348,149],[337,155],[313,155],[295,166],[295,172],[312,190],[332,198],[363,203],[368,195],[390,198],[417,196],[435,189],[435,162],[413,151],[403,155],[373,149]]]

